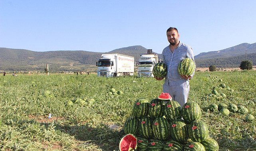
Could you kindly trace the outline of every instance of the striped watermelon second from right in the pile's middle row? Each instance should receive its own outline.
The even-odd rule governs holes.
[[[175,141],[179,141],[181,143],[189,139],[188,127],[185,121],[182,119],[176,119],[171,122],[170,133],[171,133],[171,137]]]

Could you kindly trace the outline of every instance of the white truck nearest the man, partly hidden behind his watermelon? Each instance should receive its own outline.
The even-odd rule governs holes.
[[[139,58],[138,66],[138,77],[154,77],[153,67],[158,63],[158,55],[152,53],[152,49],[147,50],[147,54],[141,55]]]

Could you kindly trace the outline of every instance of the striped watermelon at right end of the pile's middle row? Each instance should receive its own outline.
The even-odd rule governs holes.
[[[207,125],[201,121],[196,120],[189,124],[189,138],[192,141],[202,142],[209,136],[209,130]]]

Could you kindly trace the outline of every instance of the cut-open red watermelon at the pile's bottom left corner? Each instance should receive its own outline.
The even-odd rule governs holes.
[[[137,138],[133,134],[125,135],[119,143],[120,151],[133,151],[136,148],[137,148]]]

